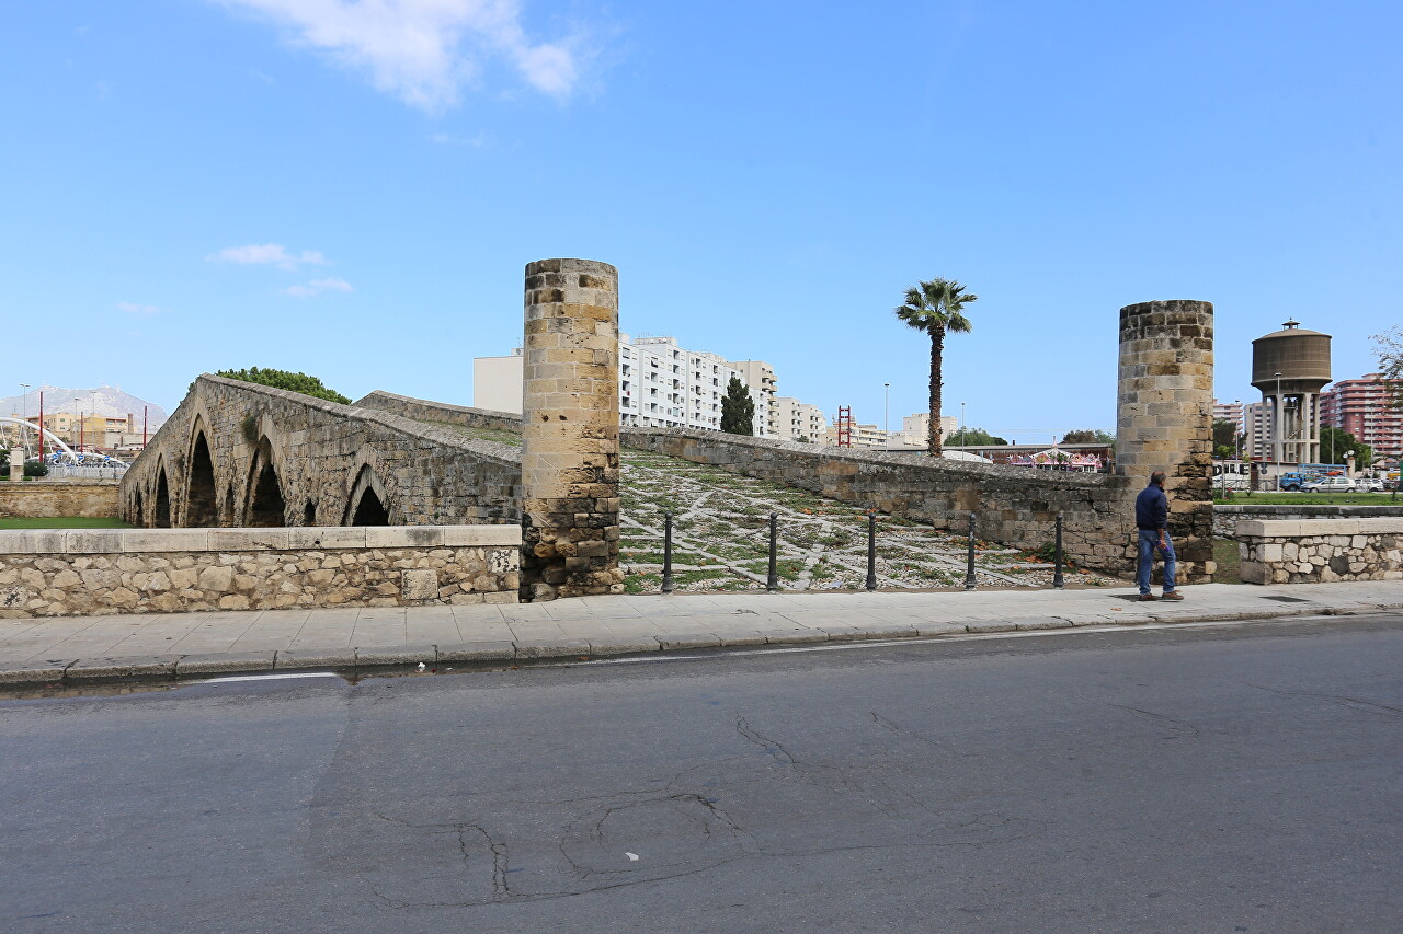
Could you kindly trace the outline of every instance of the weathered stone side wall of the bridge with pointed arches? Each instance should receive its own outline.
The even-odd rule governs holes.
[[[201,436],[208,461],[195,456]],[[254,517],[269,466],[282,509]],[[205,374],[122,478],[121,515],[142,526],[342,526],[366,491],[389,524],[516,523],[521,450]]]

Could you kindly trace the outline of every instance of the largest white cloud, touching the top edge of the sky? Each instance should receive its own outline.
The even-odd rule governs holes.
[[[488,55],[511,62],[528,84],[568,97],[579,79],[574,45],[532,42],[521,0],[223,0],[286,29],[297,45],[370,74],[382,91],[429,112],[459,101]]]

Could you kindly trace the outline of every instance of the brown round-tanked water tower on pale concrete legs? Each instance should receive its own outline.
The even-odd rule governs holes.
[[[1330,335],[1287,321],[1251,342],[1251,384],[1268,412],[1267,439],[1278,464],[1320,461],[1320,390],[1330,383]]]

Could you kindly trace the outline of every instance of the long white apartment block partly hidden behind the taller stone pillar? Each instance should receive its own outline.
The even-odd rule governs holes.
[[[523,358],[473,358],[473,405],[522,412]],[[769,365],[763,365],[769,367]],[[739,377],[755,401],[755,435],[774,438],[774,374],[770,391],[756,391],[741,365],[716,353],[687,351],[671,337],[630,339],[619,335],[619,419],[640,428],[706,428],[721,431],[721,398],[731,377]]]

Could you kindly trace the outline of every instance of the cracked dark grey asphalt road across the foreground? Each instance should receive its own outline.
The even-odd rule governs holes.
[[[1372,617],[3,701],[0,928],[1393,933],[1400,672]]]

